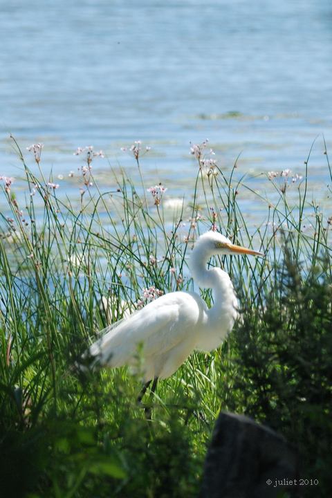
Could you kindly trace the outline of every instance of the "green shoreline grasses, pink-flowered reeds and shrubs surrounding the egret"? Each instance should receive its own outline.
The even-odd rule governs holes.
[[[114,187],[93,177],[93,147],[82,157],[77,199],[44,176],[42,144],[28,153],[12,138],[25,195],[1,176],[0,474],[11,497],[196,497],[219,412],[246,414],[282,434],[299,458],[304,497],[326,497],[332,444],[332,209],[308,196],[305,174],[269,172],[274,201],[219,169],[208,142],[192,145],[190,203],[171,207],[169,185],[145,185],[144,154],[127,152],[140,185],[113,170]],[[326,195],[332,195],[329,156]],[[322,186],[323,187],[323,186]],[[266,205],[252,228],[237,193]],[[289,190],[297,190],[290,203]],[[277,196],[277,200],[276,200]],[[165,205],[164,205],[165,202]],[[38,206],[38,207],[37,207]],[[125,369],[80,372],[75,361],[109,322],[163,293],[191,291],[187,256],[200,233],[218,230],[265,259],[212,259],[234,282],[241,317],[221,348],[194,353],[176,374],[136,403],[139,376]],[[201,289],[212,304],[212,294]],[[140,351],[138,351],[140,362]],[[297,490],[298,491],[298,490]],[[294,489],[281,490],[291,497]],[[295,496],[295,495],[294,495]]]

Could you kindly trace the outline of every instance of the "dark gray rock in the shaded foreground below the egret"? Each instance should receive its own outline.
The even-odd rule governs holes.
[[[299,497],[295,479],[295,455],[282,436],[246,416],[221,412],[205,459],[201,498],[279,498],[284,489]]]

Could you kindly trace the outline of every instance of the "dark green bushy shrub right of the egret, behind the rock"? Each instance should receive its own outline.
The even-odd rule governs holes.
[[[288,251],[262,306],[243,309],[230,338],[228,407],[266,423],[295,448],[305,496],[332,489],[332,279],[324,259],[308,275]],[[244,299],[244,298],[243,298]]]

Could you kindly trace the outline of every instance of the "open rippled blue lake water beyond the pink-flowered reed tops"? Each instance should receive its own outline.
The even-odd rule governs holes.
[[[120,147],[142,140],[149,181],[179,195],[196,176],[190,142],[208,138],[225,171],[241,153],[239,174],[303,174],[318,136],[310,174],[326,188],[331,0],[0,4],[0,174],[21,175],[9,133],[24,150],[44,142],[42,166],[64,190],[77,147],[103,149],[135,177]],[[108,164],[95,160],[102,178]]]

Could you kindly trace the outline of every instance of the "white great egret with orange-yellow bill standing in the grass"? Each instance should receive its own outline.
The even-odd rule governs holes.
[[[157,378],[172,376],[194,350],[219,347],[236,320],[237,297],[228,273],[221,268],[208,269],[207,264],[213,255],[231,254],[264,256],[235,246],[217,232],[201,235],[192,251],[190,269],[199,286],[212,288],[214,306],[209,309],[196,293],[173,292],[158,297],[102,331],[104,335],[89,349],[93,363],[135,367],[142,344],[142,374],[147,385],[154,379],[156,387]]]

